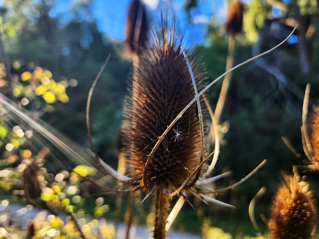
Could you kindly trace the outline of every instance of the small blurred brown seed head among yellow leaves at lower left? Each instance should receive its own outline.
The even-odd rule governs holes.
[[[26,166],[22,174],[22,189],[25,191],[26,198],[37,199],[41,196],[41,189],[38,181],[38,166],[33,162]]]

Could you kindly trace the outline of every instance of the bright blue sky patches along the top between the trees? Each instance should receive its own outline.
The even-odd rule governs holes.
[[[71,19],[68,16],[70,6],[74,1],[86,0],[56,0],[56,6],[50,11],[51,17],[63,15],[63,24]],[[190,11],[194,22],[187,21],[187,15],[183,8],[185,0],[142,0],[148,9],[148,17],[152,25],[158,23],[160,12],[175,14],[181,30],[185,29],[186,38],[197,43],[203,43],[206,34],[207,23],[215,19],[215,23],[222,24],[225,20],[224,1],[199,0],[198,7]],[[92,13],[98,28],[107,37],[113,40],[124,39],[125,19],[127,8],[131,0],[93,0]],[[69,14],[70,15],[70,14]],[[215,18],[212,18],[215,16]]]

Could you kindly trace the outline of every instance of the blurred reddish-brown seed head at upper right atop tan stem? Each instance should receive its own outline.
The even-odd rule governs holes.
[[[242,30],[244,6],[240,0],[231,0],[226,19],[226,31],[236,35]]]

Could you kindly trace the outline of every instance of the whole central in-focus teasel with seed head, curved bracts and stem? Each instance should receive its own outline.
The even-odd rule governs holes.
[[[175,195],[181,195],[187,200],[186,194],[191,193],[207,202],[231,206],[212,197],[241,184],[266,161],[234,185],[215,191],[204,190],[205,185],[223,175],[201,179],[201,169],[213,153],[204,159],[203,114],[199,97],[228,72],[276,47],[228,70],[198,92],[196,81],[203,78],[203,68],[194,60],[194,54],[190,54],[188,60],[189,50],[183,50],[175,25],[167,24],[167,20],[162,18],[159,32],[152,32],[152,39],[143,50],[139,66],[133,73],[132,90],[126,97],[122,130],[125,134],[122,151],[128,155],[126,176],[116,172],[98,157],[90,130],[92,93],[107,61],[94,80],[88,96],[86,125],[96,159],[109,175],[127,186],[113,189],[87,180],[103,188],[105,193],[141,190],[147,193],[147,197],[154,192],[153,237],[159,239],[166,236],[169,200]],[[195,102],[197,106],[193,105]]]

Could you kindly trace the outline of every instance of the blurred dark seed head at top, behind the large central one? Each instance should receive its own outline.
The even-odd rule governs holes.
[[[129,53],[140,54],[147,40],[148,22],[140,0],[131,2],[126,19],[126,47]]]

